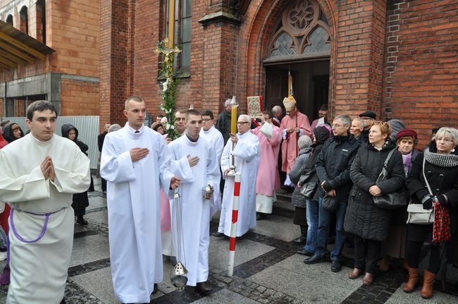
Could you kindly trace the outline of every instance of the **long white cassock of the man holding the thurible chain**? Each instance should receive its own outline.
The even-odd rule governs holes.
[[[135,147],[149,154],[132,162]],[[166,141],[150,128],[135,133],[126,123],[104,140],[100,175],[108,182],[111,275],[123,303],[149,303],[154,283],[162,281],[159,188],[168,192],[170,159]]]

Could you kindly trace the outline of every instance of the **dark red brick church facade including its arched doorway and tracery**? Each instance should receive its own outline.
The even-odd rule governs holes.
[[[156,42],[166,37],[166,0],[101,0],[101,121],[142,95],[159,113]],[[314,118],[370,109],[402,118],[424,144],[431,128],[457,126],[458,4],[407,0],[177,0],[178,107],[218,113],[236,95],[287,94]],[[190,7],[192,6],[192,7]],[[180,62],[184,61],[180,66]]]

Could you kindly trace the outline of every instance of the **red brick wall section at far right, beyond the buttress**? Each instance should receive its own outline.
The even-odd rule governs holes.
[[[392,1],[387,15],[383,117],[401,118],[423,146],[431,128],[457,127],[458,3]]]

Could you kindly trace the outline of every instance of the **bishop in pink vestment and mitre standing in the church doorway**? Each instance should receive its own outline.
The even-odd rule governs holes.
[[[297,158],[297,140],[302,135],[311,136],[309,118],[297,110],[295,99],[290,96],[283,99],[286,109],[286,116],[281,120],[281,130],[283,131],[282,171],[290,174],[292,165]]]

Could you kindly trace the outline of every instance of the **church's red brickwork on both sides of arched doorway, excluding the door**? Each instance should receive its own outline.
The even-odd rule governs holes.
[[[111,39],[111,44],[102,43],[101,78],[109,83],[101,82],[101,123],[104,118],[116,121],[120,100],[132,91],[145,97],[151,114],[159,111],[159,59],[153,51],[165,32],[165,1],[137,1],[135,56],[129,51],[132,31],[123,30],[134,24],[128,0],[102,1],[102,40]],[[225,9],[220,2],[225,4],[193,1],[191,76],[181,80],[178,107],[194,104],[218,113],[225,98],[235,93],[243,111],[245,97],[264,94],[261,61],[287,0],[251,1],[240,25],[197,23],[206,13]],[[402,118],[419,130],[423,143],[433,126],[453,125],[458,111],[455,2],[318,0],[332,41],[331,116],[371,109],[383,119]],[[114,13],[115,6],[123,10]]]

